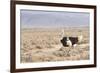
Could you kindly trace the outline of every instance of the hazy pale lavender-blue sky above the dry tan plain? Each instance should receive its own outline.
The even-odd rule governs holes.
[[[21,27],[89,26],[89,13],[20,10]]]

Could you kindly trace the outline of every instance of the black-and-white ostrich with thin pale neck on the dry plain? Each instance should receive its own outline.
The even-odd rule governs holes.
[[[67,37],[64,34],[64,30],[62,30],[62,37],[60,39],[60,42],[64,47],[75,47],[79,42],[82,41],[82,39],[82,35],[79,35],[77,37]]]

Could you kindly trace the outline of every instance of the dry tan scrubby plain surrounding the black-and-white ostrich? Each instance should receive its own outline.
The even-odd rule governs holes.
[[[76,47],[63,47],[59,28],[21,29],[21,63],[88,60],[89,29],[65,28],[66,36],[80,34],[83,35],[83,40]]]

